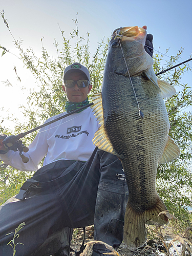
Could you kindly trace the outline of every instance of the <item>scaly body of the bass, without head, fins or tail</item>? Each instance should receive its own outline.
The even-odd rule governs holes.
[[[156,203],[154,169],[157,169],[158,160],[167,142],[168,117],[161,95],[155,88],[148,93],[148,83],[151,82],[140,76],[132,77],[132,82],[144,113],[144,118],[141,119],[130,78],[121,77],[123,86],[119,95],[114,94],[114,86],[118,80],[116,77],[118,78],[117,74],[106,69],[102,87],[105,129],[117,154],[124,156],[121,161],[126,179],[129,180],[129,200],[134,202],[136,210],[143,211]],[[110,81],[105,83],[105,79]],[[118,85],[121,86],[120,83]]]

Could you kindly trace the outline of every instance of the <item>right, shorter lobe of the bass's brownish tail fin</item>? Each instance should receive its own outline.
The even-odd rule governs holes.
[[[146,224],[154,224],[154,222],[160,225],[167,224],[168,218],[165,213],[163,214],[163,211],[167,211],[167,208],[161,198],[157,195],[156,205],[152,209],[145,211]],[[160,214],[161,212],[162,214]]]

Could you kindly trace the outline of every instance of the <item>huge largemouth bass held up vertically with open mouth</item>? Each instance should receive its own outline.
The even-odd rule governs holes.
[[[156,191],[157,165],[180,154],[168,136],[163,101],[175,89],[155,76],[153,59],[144,50],[145,39],[146,30],[139,27],[113,32],[102,91],[93,97],[101,124],[93,142],[118,156],[129,188],[124,217],[124,242],[129,248],[145,243],[145,223],[167,224],[166,215],[159,215],[166,207]]]

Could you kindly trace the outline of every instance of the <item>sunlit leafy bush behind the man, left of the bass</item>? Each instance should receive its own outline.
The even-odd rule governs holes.
[[[4,16],[4,11],[1,12],[1,16],[11,33]],[[93,85],[92,95],[101,89],[108,44],[101,40],[91,58],[91,53],[89,51],[89,33],[87,34],[87,40],[85,41],[82,36],[79,36],[77,16],[74,19],[74,23],[75,29],[70,33],[69,38],[65,37],[64,32],[60,30],[62,36],[62,49],[59,49],[57,41],[54,41],[57,54],[57,58],[54,60],[44,48],[42,39],[41,56],[38,57],[31,48],[24,51],[21,46],[22,41],[16,40],[11,33],[14,45],[18,49],[18,58],[20,58],[20,60],[24,62],[26,68],[31,71],[37,81],[38,87],[38,90],[36,91],[31,90],[28,96],[27,107],[24,105],[21,106],[26,121],[25,123],[19,123],[18,120],[16,120],[18,124],[15,125],[15,134],[31,130],[42,124],[50,116],[63,112],[63,106],[65,106],[67,98],[62,91],[62,75],[65,68],[73,62],[78,61],[89,69],[91,83]],[[72,49],[74,41],[75,47]],[[10,53],[5,47],[0,46],[0,48],[3,49],[2,56],[5,53]],[[9,119],[14,121],[14,118],[9,117]],[[11,131],[6,129],[6,127],[3,127],[3,124],[0,126],[0,132],[11,135]],[[22,141],[26,145],[29,145],[35,138],[36,133],[37,132],[27,135]],[[20,172],[10,166],[2,164],[2,167],[0,166],[0,202],[4,203],[10,196],[15,195],[21,184],[32,175],[33,173]]]

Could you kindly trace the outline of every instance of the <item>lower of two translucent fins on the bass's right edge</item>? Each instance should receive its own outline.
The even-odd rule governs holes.
[[[172,138],[168,135],[168,141],[165,146],[163,155],[159,160],[158,164],[168,163],[169,161],[173,161],[175,158],[178,158],[180,155],[179,147],[175,144]]]

